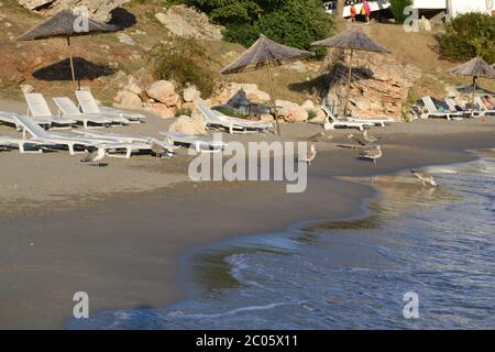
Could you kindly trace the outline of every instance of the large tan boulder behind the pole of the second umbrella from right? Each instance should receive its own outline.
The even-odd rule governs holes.
[[[349,111],[356,117],[392,117],[402,119],[403,102],[409,88],[421,77],[421,70],[402,65],[389,55],[360,54],[354,61]],[[327,101],[340,101],[343,113],[348,67],[336,64],[330,73]]]

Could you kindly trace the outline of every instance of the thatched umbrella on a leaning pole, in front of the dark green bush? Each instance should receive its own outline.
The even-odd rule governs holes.
[[[277,133],[280,134],[278,124],[277,107],[275,103],[275,95],[272,80],[272,67],[280,66],[301,58],[312,57],[310,52],[300,51],[295,47],[278,44],[263,34],[248,51],[245,51],[238,59],[226,66],[220,73],[222,75],[240,74],[250,70],[266,69],[270,81],[270,94],[272,105],[275,109],[275,122],[277,124]]]

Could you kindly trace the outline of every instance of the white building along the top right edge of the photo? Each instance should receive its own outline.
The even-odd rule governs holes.
[[[346,0],[344,18],[351,15],[351,3],[355,4],[358,13],[361,11],[362,0]],[[372,12],[383,11],[391,7],[388,0],[369,0],[369,3]],[[324,6],[329,13],[336,13],[337,0],[327,1]],[[420,11],[446,11],[454,16],[468,12],[495,13],[495,0],[415,0],[413,7]]]

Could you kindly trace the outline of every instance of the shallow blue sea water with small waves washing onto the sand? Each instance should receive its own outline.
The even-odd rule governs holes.
[[[69,329],[495,328],[495,158],[372,179],[369,215],[189,253],[189,298]],[[361,182],[370,182],[363,179]],[[406,319],[404,294],[419,297]]]

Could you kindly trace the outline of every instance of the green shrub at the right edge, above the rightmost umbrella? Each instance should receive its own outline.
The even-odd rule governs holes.
[[[452,61],[483,57],[495,63],[495,16],[483,13],[459,15],[438,37],[440,55]]]

